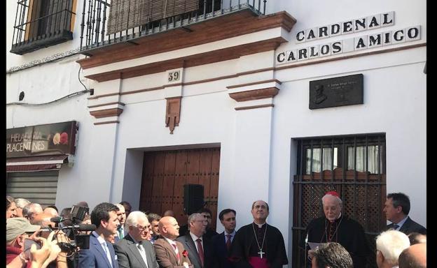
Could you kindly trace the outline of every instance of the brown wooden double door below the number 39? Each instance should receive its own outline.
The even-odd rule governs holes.
[[[146,151],[139,209],[161,216],[170,209],[179,225],[185,225],[188,216],[183,212],[183,185],[202,184],[205,207],[212,211],[215,230],[219,168],[220,148]]]

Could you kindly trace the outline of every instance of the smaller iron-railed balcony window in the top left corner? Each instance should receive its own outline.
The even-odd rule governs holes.
[[[18,1],[11,53],[22,55],[72,40],[75,6],[76,0]]]

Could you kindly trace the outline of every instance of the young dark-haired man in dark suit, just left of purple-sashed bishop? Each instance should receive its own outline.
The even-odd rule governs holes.
[[[219,219],[225,231],[212,238],[214,263],[219,268],[232,268],[232,263],[228,260],[230,247],[235,237],[235,212],[234,209],[223,209],[219,214]]]

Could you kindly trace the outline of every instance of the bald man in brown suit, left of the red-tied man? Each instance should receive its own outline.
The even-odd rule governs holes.
[[[160,268],[193,268],[188,251],[175,239],[179,236],[176,218],[164,216],[158,223],[160,237],[153,243]]]

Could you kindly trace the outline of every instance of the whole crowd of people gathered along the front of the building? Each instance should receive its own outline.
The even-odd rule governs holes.
[[[324,216],[307,226],[307,264],[312,268],[367,267],[370,246],[363,227],[342,213],[335,191],[321,199]],[[173,211],[132,211],[129,202],[102,202],[82,216],[71,208],[44,209],[24,198],[6,197],[6,267],[96,268],[282,268],[289,260],[284,237],[266,222],[268,203],[253,202],[253,222],[235,230],[237,211],[223,209],[224,231],[211,228],[207,208],[179,226]],[[75,207],[74,206],[74,207]],[[73,209],[76,210],[76,209]],[[426,229],[408,216],[403,193],[387,195],[390,225],[376,239],[378,268],[426,267]],[[77,213],[77,211],[76,211]]]

